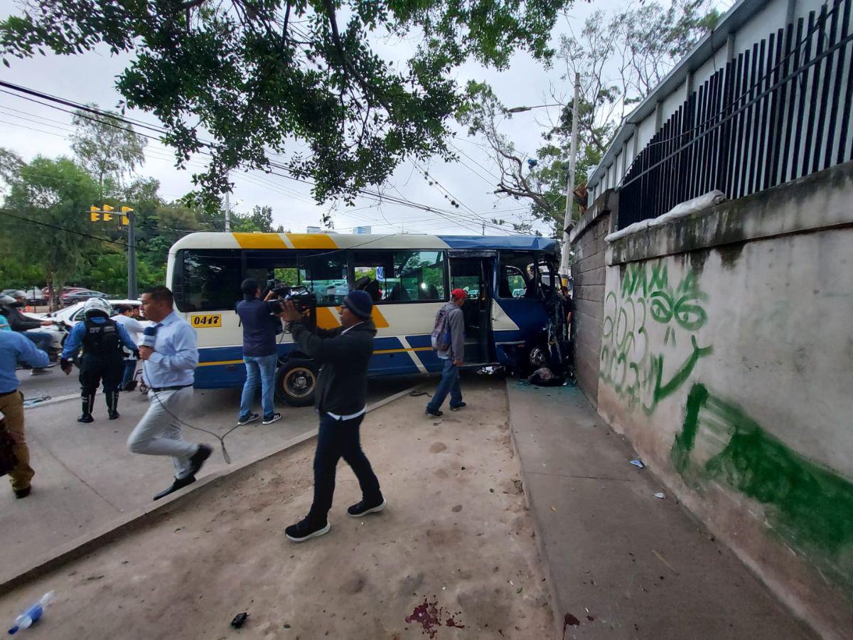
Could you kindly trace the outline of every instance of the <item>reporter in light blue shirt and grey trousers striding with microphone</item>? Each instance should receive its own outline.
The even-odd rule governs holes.
[[[175,480],[154,496],[159,500],[191,485],[212,449],[188,442],[181,433],[181,414],[193,399],[193,374],[199,364],[195,330],[175,313],[168,288],[154,287],[142,294],[142,312],[154,323],[145,329],[139,345],[149,406],[127,439],[127,448],[132,453],[171,457]]]

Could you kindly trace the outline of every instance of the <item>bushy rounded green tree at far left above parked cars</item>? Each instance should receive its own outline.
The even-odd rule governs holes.
[[[88,211],[97,185],[82,167],[67,158],[37,156],[20,166],[3,202],[4,236],[11,238],[9,256],[44,273],[54,308],[68,278],[84,264],[87,248],[98,241]],[[14,217],[11,217],[14,216]]]

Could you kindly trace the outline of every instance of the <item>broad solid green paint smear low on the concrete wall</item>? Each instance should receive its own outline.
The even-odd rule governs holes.
[[[831,556],[853,580],[853,483],[792,451],[737,404],[695,384],[670,450],[688,482],[715,480],[765,505],[775,531],[800,550]]]

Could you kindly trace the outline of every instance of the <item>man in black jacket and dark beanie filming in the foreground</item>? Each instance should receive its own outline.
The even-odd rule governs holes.
[[[302,542],[328,533],[328,510],[334,496],[335,468],[341,457],[356,474],[362,500],[346,510],[354,518],[386,507],[379,480],[362,451],[359,428],[366,410],[368,363],[373,353],[376,327],[370,319],[373,300],[364,291],[344,299],[338,329],[310,330],[293,302],[285,302],[281,317],[291,323],[299,350],[322,365],[317,378],[315,404],[320,431],[314,456],[314,502],[308,515],[285,529],[287,538]]]

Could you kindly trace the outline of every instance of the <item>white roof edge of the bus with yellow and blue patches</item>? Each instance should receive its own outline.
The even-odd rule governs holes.
[[[200,231],[183,236],[179,249],[516,249],[555,253],[557,243],[540,236],[427,236],[421,234],[226,233]]]

